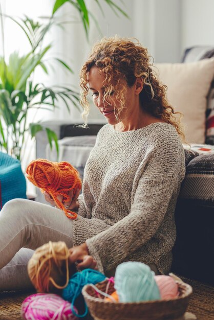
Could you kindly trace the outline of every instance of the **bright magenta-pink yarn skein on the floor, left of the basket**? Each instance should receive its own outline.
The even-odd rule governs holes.
[[[75,308],[74,310],[77,312]],[[71,304],[51,293],[28,296],[22,303],[21,314],[26,320],[77,320],[71,311]]]

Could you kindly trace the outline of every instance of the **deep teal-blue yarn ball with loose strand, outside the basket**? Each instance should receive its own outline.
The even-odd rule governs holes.
[[[88,313],[88,307],[85,304],[84,314],[76,314],[74,309],[75,300],[80,296],[82,288],[87,284],[97,284],[105,280],[106,277],[99,271],[93,269],[84,269],[74,273],[70,278],[66,288],[62,290],[62,298],[71,302],[71,310],[78,317],[84,317]]]

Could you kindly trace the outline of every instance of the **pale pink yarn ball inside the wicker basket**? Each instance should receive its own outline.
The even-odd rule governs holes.
[[[174,299],[178,296],[178,284],[170,276],[155,276],[162,300]]]

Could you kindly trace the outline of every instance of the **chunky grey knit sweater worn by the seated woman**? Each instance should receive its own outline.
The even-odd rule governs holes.
[[[86,241],[101,272],[141,261],[167,273],[184,175],[184,150],[174,126],[153,123],[120,132],[104,125],[85,166],[74,245]]]

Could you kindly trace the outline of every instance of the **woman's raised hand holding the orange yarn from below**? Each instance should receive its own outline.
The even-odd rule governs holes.
[[[68,209],[68,210],[78,211],[78,209],[79,209],[79,201],[77,200],[77,198],[79,196],[80,190],[77,189],[76,194],[75,194],[74,197],[73,197],[73,193],[74,193],[73,189],[68,192],[69,198],[71,200],[67,201],[67,202],[63,202],[63,204],[66,206],[66,209]],[[44,192],[44,196],[45,196],[45,199],[46,199],[47,202],[49,202],[51,205],[53,205],[53,207],[57,207],[57,203],[54,201],[52,196],[47,191]],[[62,202],[63,196],[62,195],[58,195],[57,199],[60,202]]]

